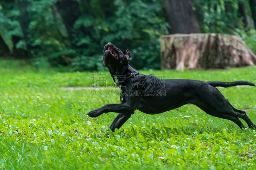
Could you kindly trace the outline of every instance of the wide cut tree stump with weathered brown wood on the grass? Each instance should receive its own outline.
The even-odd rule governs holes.
[[[161,68],[225,69],[256,64],[256,56],[236,35],[172,34],[160,37]]]

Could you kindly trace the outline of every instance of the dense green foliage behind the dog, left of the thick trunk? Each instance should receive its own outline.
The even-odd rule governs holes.
[[[103,70],[107,42],[129,49],[135,67],[150,62],[148,68],[159,68],[159,35],[168,26],[160,1],[140,0],[3,1],[0,23],[10,52],[18,48],[38,67],[49,63],[70,66],[69,71]]]

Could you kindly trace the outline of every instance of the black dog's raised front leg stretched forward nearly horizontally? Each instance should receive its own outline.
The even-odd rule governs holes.
[[[103,113],[108,113],[108,112],[116,112],[116,113],[122,113],[122,114],[133,114],[134,108],[132,105],[128,103],[121,103],[121,104],[107,104],[104,105],[100,108],[97,108],[95,110],[92,110],[89,112],[87,115],[90,117],[97,117]]]

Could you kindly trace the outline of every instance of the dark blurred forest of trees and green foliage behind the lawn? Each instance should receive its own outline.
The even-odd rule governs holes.
[[[112,42],[132,53],[136,69],[159,69],[160,35],[236,34],[255,53],[255,28],[255,0],[2,0],[0,56],[103,70]]]

